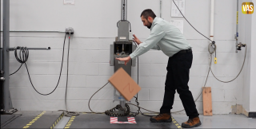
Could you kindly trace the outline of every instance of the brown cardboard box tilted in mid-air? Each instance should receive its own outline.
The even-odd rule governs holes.
[[[142,89],[123,68],[114,72],[109,81],[127,101],[130,101]]]

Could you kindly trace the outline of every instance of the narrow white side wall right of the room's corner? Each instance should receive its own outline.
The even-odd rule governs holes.
[[[255,1],[240,1],[240,5],[242,5],[242,2],[254,2]],[[240,25],[239,29],[240,31],[240,41],[242,43],[246,43],[247,47],[247,53],[246,53],[246,63],[245,68],[243,71],[244,74],[244,85],[242,88],[243,96],[242,96],[242,107],[245,108],[248,112],[255,112],[256,111],[256,95],[255,95],[255,65],[256,65],[256,59],[255,59],[255,50],[256,45],[254,45],[256,34],[256,18],[255,14],[242,14],[242,12],[239,12],[239,19],[242,23]]]

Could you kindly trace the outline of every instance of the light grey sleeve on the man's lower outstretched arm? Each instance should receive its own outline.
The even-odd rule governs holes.
[[[130,54],[130,58],[138,57],[143,53],[146,53],[150,49],[154,48],[158,44],[158,41],[164,37],[166,33],[163,31],[162,26],[154,25],[154,28],[151,30],[150,36],[143,41],[133,53]],[[159,48],[160,49],[160,48]]]

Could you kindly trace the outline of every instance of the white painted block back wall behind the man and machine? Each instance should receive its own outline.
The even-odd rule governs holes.
[[[117,36],[116,22],[120,19],[121,1],[117,0],[76,0],[74,6],[63,5],[62,0],[12,0],[10,1],[11,30],[64,30],[74,28],[74,37],[70,40],[70,79],[68,88],[68,109],[70,111],[89,111],[88,100],[94,92],[105,84],[113,74],[109,66],[110,44]],[[158,0],[129,0],[128,20],[132,31],[142,41],[150,30],[142,25],[139,18],[142,10],[152,9],[159,16]],[[162,18],[170,22],[171,1],[163,0]],[[235,53],[236,1],[216,0],[214,13],[214,38],[218,45],[218,64],[213,71],[221,80],[230,80],[241,68],[244,51]],[[210,0],[186,1],[186,18],[196,29],[206,36],[210,35]],[[208,70],[209,41],[198,34],[184,20],[184,35],[193,45],[194,61],[190,70],[190,90],[194,99],[201,92]],[[57,84],[61,66],[63,33],[10,33],[10,46],[47,47],[50,51],[30,51],[27,65],[31,79],[39,92],[47,93]],[[67,48],[67,47],[66,47]],[[67,52],[67,51],[66,51]],[[10,72],[19,64],[10,54]],[[66,55],[66,54],[65,54]],[[65,57],[66,59],[66,57]],[[166,57],[161,51],[150,51],[139,58],[140,106],[159,111],[162,105],[166,78]],[[14,108],[18,110],[58,110],[65,109],[64,94],[66,87],[66,63],[62,79],[57,90],[50,96],[39,96],[31,87],[26,68],[10,76],[10,94]],[[137,80],[137,67],[132,69]],[[215,80],[212,74],[206,84],[212,88],[214,114],[228,114],[231,105],[242,104],[241,92],[243,77],[229,84]],[[94,111],[106,111],[113,108],[113,88],[110,84],[96,94],[91,102]],[[133,101],[134,102],[134,101]],[[202,113],[202,97],[196,102]],[[132,108],[135,110],[136,108]],[[175,96],[173,111],[181,110],[182,103]],[[184,113],[184,111],[182,112]]]

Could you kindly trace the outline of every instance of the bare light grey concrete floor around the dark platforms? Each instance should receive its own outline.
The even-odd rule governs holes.
[[[179,124],[188,119],[186,115],[173,114],[172,116]],[[256,119],[247,118],[245,115],[200,115],[199,117],[202,125],[196,128],[256,128]],[[54,128],[64,128],[69,119],[68,117],[62,118]],[[150,120],[150,118],[148,119]]]

